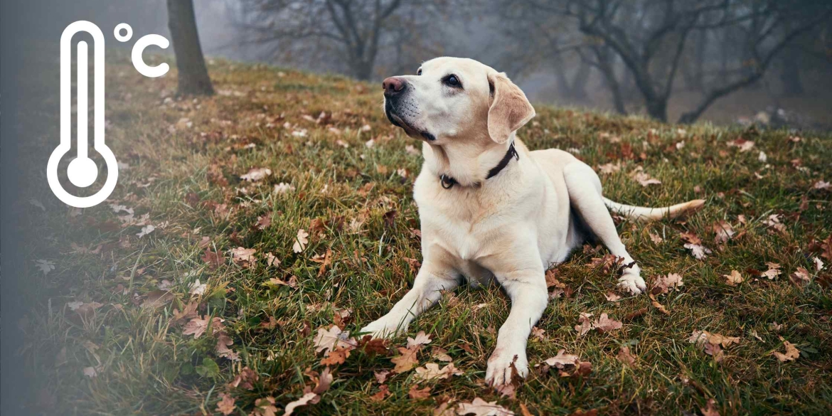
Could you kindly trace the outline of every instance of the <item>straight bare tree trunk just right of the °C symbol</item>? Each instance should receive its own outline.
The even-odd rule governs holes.
[[[193,0],[167,0],[167,26],[171,29],[180,95],[212,95],[205,57],[196,32]]]

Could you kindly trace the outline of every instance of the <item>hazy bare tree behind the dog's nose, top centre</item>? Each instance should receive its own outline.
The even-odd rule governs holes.
[[[248,42],[272,44],[275,56],[329,62],[353,77],[374,77],[379,53],[428,36],[423,29],[446,2],[402,0],[245,0],[240,25]],[[398,43],[397,43],[398,42]]]

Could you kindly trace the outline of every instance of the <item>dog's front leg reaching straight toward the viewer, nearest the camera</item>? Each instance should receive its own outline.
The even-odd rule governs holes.
[[[520,377],[528,375],[528,335],[546,310],[549,299],[542,267],[539,270],[518,270],[500,277],[503,289],[512,300],[512,310],[500,327],[497,348],[488,359],[485,381],[494,387],[512,382],[512,364]]]

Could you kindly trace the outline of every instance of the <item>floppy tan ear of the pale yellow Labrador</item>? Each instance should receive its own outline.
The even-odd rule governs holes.
[[[505,72],[489,74],[488,88],[491,101],[488,107],[488,135],[493,141],[505,143],[513,131],[532,120],[534,107]]]

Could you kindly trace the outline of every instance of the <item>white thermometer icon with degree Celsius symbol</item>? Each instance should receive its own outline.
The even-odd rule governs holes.
[[[120,31],[126,30],[126,35]],[[73,196],[58,181],[57,168],[61,159],[72,148],[72,36],[77,32],[87,32],[93,41],[93,142],[92,147],[106,163],[106,181],[102,189],[92,196]],[[132,29],[126,23],[116,26],[116,39],[126,42],[132,35]],[[169,67],[162,63],[156,67],[147,66],[141,59],[141,52],[149,45],[162,48],[169,42],[159,35],[141,37],[132,50],[132,62],[136,70],[146,77],[161,77]],[[67,177],[72,185],[80,188],[91,186],[98,177],[96,162],[87,156],[87,42],[77,45],[77,156],[69,162]],[[80,20],[73,22],[61,34],[61,143],[52,151],[47,162],[47,181],[57,198],[69,206],[88,208],[106,200],[116,188],[118,181],[118,162],[109,147],[104,143],[104,35],[95,23]]]

